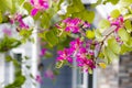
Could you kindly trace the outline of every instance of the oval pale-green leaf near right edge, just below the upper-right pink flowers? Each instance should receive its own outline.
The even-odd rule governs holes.
[[[125,29],[119,29],[118,34],[123,42],[128,42],[129,33],[125,31]]]

